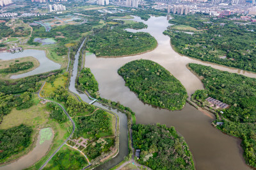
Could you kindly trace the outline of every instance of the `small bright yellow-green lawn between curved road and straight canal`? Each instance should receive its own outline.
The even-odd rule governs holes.
[[[67,79],[68,79],[67,77],[65,77],[64,75],[61,75],[61,77],[58,77],[53,82],[53,86],[50,82],[46,82],[41,94],[44,95],[44,97],[49,97],[49,94],[52,93],[57,88],[61,86],[65,87],[67,83]]]

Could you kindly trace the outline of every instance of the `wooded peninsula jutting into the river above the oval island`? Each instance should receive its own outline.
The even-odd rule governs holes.
[[[148,33],[131,33],[105,26],[95,31],[86,48],[96,56],[127,56],[140,54],[157,47],[157,41]]]

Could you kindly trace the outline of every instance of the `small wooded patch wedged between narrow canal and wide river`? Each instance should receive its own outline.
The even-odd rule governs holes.
[[[86,90],[90,94],[99,91],[99,84],[92,74],[90,68],[83,68],[81,70],[78,83],[79,89],[82,89],[83,91]]]

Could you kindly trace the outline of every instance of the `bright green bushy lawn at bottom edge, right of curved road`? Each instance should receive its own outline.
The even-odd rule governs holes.
[[[64,145],[45,166],[45,169],[83,169],[86,166],[88,162],[79,151]]]

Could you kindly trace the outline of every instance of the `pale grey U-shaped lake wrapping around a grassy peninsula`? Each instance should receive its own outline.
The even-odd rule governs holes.
[[[45,73],[45,72],[50,72],[52,70],[57,70],[61,68],[61,65],[58,63],[55,63],[54,61],[51,61],[51,59],[47,58],[45,55],[44,50],[24,50],[23,52],[18,52],[18,53],[10,53],[10,52],[3,52],[0,53],[0,59],[3,60],[9,60],[9,59],[17,59],[17,58],[24,58],[24,57],[29,57],[32,56],[33,58],[36,58],[40,66],[35,68],[34,70],[27,72],[27,73],[21,73],[19,75],[12,75],[10,78],[11,79],[19,79],[23,77],[28,77],[30,75],[36,75],[38,73]]]

